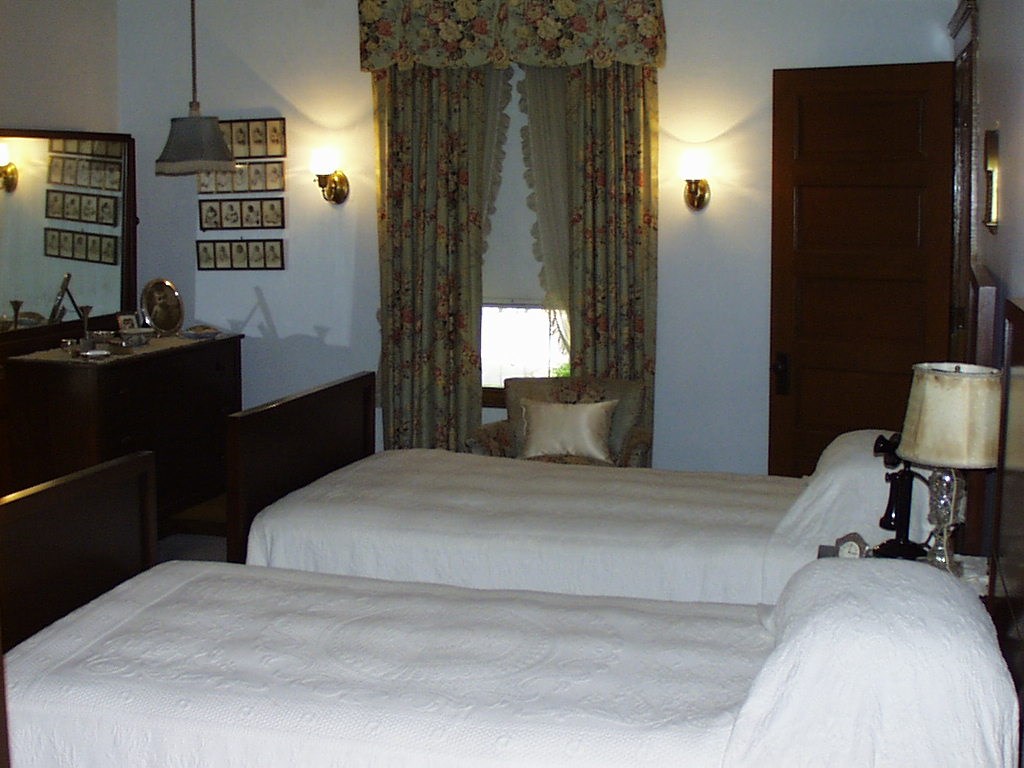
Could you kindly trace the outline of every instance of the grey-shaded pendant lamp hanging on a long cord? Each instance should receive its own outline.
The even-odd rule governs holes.
[[[157,158],[158,176],[186,176],[205,171],[233,171],[234,159],[217,118],[200,115],[196,95],[196,0],[191,0],[193,100],[187,118],[171,118],[171,132]]]

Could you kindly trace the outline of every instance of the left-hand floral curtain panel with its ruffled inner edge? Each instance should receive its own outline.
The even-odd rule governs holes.
[[[384,446],[461,450],[480,424],[481,264],[509,70],[375,73]]]

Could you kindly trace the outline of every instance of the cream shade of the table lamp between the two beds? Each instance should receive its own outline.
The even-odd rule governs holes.
[[[998,369],[964,362],[918,364],[897,455],[925,467],[994,467],[1001,386]]]

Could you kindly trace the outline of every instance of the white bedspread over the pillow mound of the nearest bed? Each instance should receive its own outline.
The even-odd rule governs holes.
[[[725,768],[1016,766],[1018,702],[967,584],[904,560],[819,560],[766,622],[776,648]]]

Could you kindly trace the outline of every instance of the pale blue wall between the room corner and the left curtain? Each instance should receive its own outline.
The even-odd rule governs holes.
[[[196,270],[190,177],[157,177],[170,118],[190,98],[188,6],[119,4],[121,123],[138,140],[139,280],[169,278],[194,319],[246,335],[251,406],[365,369],[379,350],[376,166],[370,76],[358,71],[354,3],[197,3],[199,98],[221,119],[287,120],[286,269]],[[321,198],[313,146],[343,153],[351,196]]]

